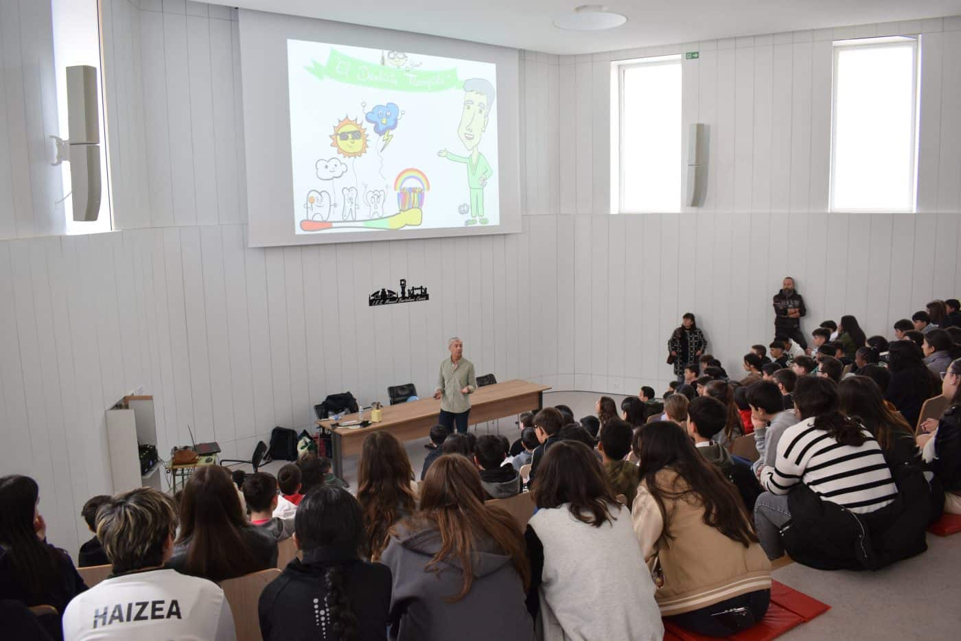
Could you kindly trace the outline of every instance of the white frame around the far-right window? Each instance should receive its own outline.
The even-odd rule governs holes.
[[[912,50],[911,64],[911,159],[909,165],[910,206],[906,208],[837,208],[834,206],[834,188],[837,183],[835,169],[837,164],[837,117],[838,117],[838,62],[842,51],[852,49],[883,49],[892,45],[909,44]],[[918,145],[921,115],[920,79],[921,79],[921,37],[920,36],[885,36],[863,37],[847,40],[834,40],[831,46],[831,139],[830,165],[828,166],[827,210],[831,213],[917,213],[918,211]]]

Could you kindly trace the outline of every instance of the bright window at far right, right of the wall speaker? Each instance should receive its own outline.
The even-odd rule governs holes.
[[[914,211],[918,41],[834,43],[831,210]]]

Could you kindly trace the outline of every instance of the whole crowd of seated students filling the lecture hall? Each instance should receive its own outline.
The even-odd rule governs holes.
[[[275,567],[293,537],[302,557],[259,599],[264,639],[659,639],[663,620],[727,636],[764,617],[785,552],[876,569],[924,552],[942,510],[961,513],[961,319],[956,301],[938,312],[899,321],[890,342],[844,316],[809,355],[778,336],[752,346],[740,381],[702,355],[663,401],[644,387],[580,420],[546,407],[520,416],[513,443],[436,426],[420,482],[397,438],[373,432],[356,497],[314,455],[276,479],[209,466],[174,497],[93,497],[78,558],[112,574],[91,589],[47,542],[37,483],[4,477],[0,608],[18,626],[5,631],[234,638],[217,583]],[[938,395],[947,408],[919,421]],[[732,452],[745,435],[754,460]],[[526,491],[522,527],[492,500]],[[62,627],[20,616],[39,604]]]

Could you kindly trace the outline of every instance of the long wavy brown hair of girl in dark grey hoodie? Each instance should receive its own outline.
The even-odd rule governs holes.
[[[420,510],[404,523],[409,531],[436,529],[440,533],[440,550],[425,570],[440,572],[440,564],[450,559],[456,559],[462,568],[464,582],[460,593],[446,597],[448,603],[460,601],[471,591],[473,557],[481,538],[493,539],[510,556],[525,592],[530,586],[527,545],[517,521],[500,507],[484,505],[483,498],[480,474],[467,458],[440,456],[424,477]]]

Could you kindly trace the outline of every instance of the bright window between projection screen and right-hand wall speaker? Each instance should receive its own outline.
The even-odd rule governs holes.
[[[612,66],[611,211],[679,211],[680,56]]]

